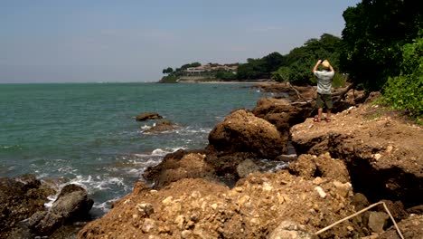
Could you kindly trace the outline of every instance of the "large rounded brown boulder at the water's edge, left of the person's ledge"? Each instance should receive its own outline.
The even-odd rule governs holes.
[[[265,119],[248,110],[236,110],[216,125],[209,144],[218,151],[252,152],[261,158],[276,158],[287,152],[287,139]]]

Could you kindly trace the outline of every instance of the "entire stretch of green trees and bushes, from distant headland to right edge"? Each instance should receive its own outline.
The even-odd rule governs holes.
[[[348,75],[355,88],[381,91],[382,101],[410,115],[423,115],[423,11],[416,0],[362,0],[343,12],[342,39],[324,33],[287,55],[270,53],[247,59],[221,80],[273,79],[315,83],[312,68],[328,59],[336,76]],[[168,68],[170,69],[170,68]],[[180,68],[181,71],[183,67]],[[164,80],[176,79],[166,71]],[[220,76],[220,77],[218,77]]]

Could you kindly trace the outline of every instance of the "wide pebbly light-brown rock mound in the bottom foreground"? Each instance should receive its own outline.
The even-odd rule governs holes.
[[[331,159],[332,160],[332,159]],[[255,173],[234,188],[204,179],[182,179],[159,191],[143,183],[120,199],[80,238],[263,238],[291,220],[315,232],[351,215],[352,187],[332,178],[305,180],[286,170]],[[324,236],[352,237],[346,222]]]

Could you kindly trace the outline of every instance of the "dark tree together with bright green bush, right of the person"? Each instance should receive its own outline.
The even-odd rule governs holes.
[[[423,13],[417,1],[365,0],[343,12],[340,67],[366,91],[381,91],[384,102],[423,115]]]

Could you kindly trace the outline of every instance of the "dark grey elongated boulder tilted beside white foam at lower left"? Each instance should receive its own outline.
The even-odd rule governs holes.
[[[29,227],[34,234],[52,234],[61,225],[88,218],[93,204],[83,187],[73,184],[64,186],[49,211],[37,212],[31,216]]]

